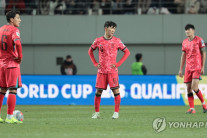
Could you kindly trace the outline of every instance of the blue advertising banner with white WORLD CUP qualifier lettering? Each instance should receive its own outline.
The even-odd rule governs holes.
[[[22,75],[17,104],[93,105],[95,82],[95,75]],[[185,105],[185,85],[178,84],[176,76],[120,75],[119,84],[121,105]],[[109,87],[102,94],[101,105],[114,105]]]

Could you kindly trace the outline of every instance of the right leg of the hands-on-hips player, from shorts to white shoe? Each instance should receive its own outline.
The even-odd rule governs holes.
[[[118,73],[109,73],[108,74],[108,81],[110,88],[112,92],[114,93],[114,103],[115,103],[115,108],[114,108],[114,114],[112,116],[113,119],[116,119],[119,117],[119,107],[121,103],[121,97],[120,97],[120,92],[119,92],[119,77]]]

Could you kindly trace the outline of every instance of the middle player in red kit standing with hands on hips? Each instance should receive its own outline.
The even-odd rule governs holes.
[[[91,61],[94,66],[98,68],[96,79],[95,113],[92,115],[93,119],[100,118],[99,107],[101,94],[103,90],[106,90],[108,84],[115,97],[115,112],[112,118],[117,119],[119,117],[121,98],[119,92],[118,67],[127,59],[130,52],[119,38],[113,36],[116,27],[116,23],[106,21],[104,24],[104,36],[96,38],[88,50]],[[96,49],[99,50],[99,62],[96,62],[93,54],[93,51]],[[116,62],[117,51],[119,49],[124,52],[124,56],[119,62]]]

